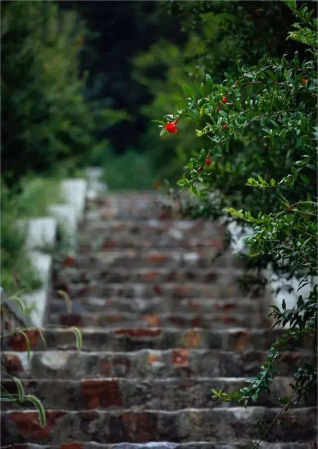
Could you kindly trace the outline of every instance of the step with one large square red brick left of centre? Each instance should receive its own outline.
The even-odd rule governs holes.
[[[152,409],[180,410],[192,408],[234,407],[237,402],[222,402],[212,398],[211,388],[227,392],[238,391],[246,386],[245,378],[187,378],[151,379],[144,378],[95,378],[85,380],[24,379],[25,392],[41,399],[45,409],[63,410],[86,409]],[[270,395],[260,395],[257,406],[279,407],[279,398],[293,397],[291,377],[277,377],[271,382]],[[16,394],[16,384],[12,380],[2,381],[5,389]],[[57,395],[58,392],[58,395]],[[316,400],[302,401],[298,406],[315,406]],[[22,404],[6,403],[2,410],[20,408]],[[29,404],[25,404],[29,407]]]

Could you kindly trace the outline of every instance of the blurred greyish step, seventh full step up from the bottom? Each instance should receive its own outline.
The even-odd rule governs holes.
[[[122,298],[154,298],[162,297],[165,300],[175,298],[229,298],[241,296],[242,290],[236,282],[200,283],[200,282],[158,282],[158,283],[119,283],[119,282],[56,282],[56,290],[66,291],[70,297],[79,299],[88,296],[117,296]],[[246,297],[260,297],[261,293],[250,292]]]

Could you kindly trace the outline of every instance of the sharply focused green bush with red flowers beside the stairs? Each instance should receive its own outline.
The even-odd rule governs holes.
[[[202,140],[203,148],[189,159],[177,183],[197,198],[194,208],[188,206],[190,215],[226,212],[229,221],[248,224],[249,264],[270,267],[287,280],[296,276],[300,293],[309,288],[308,294],[298,294],[292,309],[285,300],[281,309],[272,306],[273,328],[287,329],[270,347],[259,374],[248,379],[249,386],[234,393],[212,390],[213,397],[245,407],[256,403],[263,390],[270,392],[282,351],[305,338],[317,349],[318,23],[308,6],[297,9],[293,0],[286,4],[296,17],[288,39],[299,42],[299,52],[233,68],[221,84],[207,73],[197,90],[183,86],[186,107],[159,123],[163,135],[166,123],[188,119]],[[282,411],[317,392],[315,366],[294,367],[294,379],[294,396],[280,399]]]

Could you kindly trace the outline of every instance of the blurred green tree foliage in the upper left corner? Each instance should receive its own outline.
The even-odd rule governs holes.
[[[76,12],[47,1],[1,10],[2,176],[50,170],[92,144],[78,61],[85,27]]]

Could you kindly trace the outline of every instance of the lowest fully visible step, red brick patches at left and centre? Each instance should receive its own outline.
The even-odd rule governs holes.
[[[72,440],[100,443],[149,441],[211,441],[255,439],[258,421],[268,426],[280,408],[243,407],[184,409],[178,411],[90,410],[69,412],[49,410],[47,426],[37,424],[37,412],[7,411],[2,413],[2,445],[16,443],[61,444]],[[273,426],[269,441],[315,440],[315,408],[293,409],[280,415],[280,426]]]

